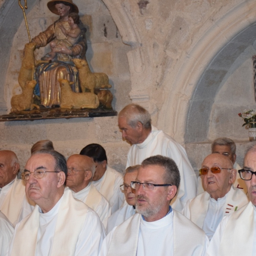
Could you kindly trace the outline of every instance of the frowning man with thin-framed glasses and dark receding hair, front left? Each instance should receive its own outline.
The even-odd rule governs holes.
[[[8,256],[97,256],[104,237],[99,216],[65,190],[67,163],[53,150],[37,151],[22,178],[33,212],[15,227]]]

